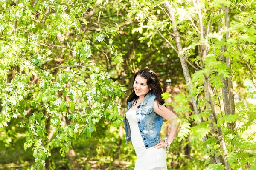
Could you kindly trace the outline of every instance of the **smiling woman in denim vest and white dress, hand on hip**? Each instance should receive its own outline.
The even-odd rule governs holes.
[[[167,170],[166,148],[169,149],[177,133],[178,118],[163,106],[162,93],[154,71],[145,68],[134,75],[124,119],[126,142],[131,140],[137,155],[134,170]],[[161,140],[159,135],[163,118],[173,120],[166,140]]]

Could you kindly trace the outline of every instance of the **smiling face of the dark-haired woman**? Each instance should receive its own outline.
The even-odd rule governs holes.
[[[137,96],[144,97],[149,92],[149,87],[147,85],[147,79],[144,79],[140,75],[135,77],[134,81],[134,91]]]

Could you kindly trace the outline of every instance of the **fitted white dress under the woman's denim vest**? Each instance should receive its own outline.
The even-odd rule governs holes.
[[[136,110],[129,109],[126,118],[131,129],[131,142],[137,155],[134,170],[167,170],[166,149],[145,148],[136,120]]]

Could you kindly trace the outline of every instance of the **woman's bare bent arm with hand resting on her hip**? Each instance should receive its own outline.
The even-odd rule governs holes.
[[[178,125],[175,126],[175,123],[179,120],[179,118],[165,106],[159,105],[157,100],[154,101],[154,112],[157,113],[159,116],[162,116],[166,120],[172,120],[170,132],[166,139],[166,142],[168,142],[168,144],[171,144],[180,125],[180,123],[178,123]],[[154,147],[157,147],[157,149],[161,147],[168,147],[166,142],[160,140],[160,143],[155,145]]]

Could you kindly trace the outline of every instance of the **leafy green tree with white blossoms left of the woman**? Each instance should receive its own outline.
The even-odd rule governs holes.
[[[32,147],[35,157],[31,169],[42,169],[55,146],[65,156],[73,139],[90,138],[101,119],[122,123],[115,100],[125,87],[93,62],[91,48],[106,46],[120,62],[113,40],[106,41],[118,31],[108,26],[87,31],[96,5],[95,0],[0,2],[0,128],[20,120],[24,148]]]

